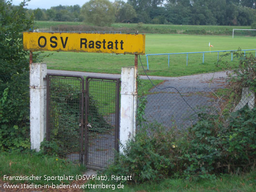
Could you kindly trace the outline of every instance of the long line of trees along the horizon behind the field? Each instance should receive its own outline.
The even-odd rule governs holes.
[[[82,7],[59,5],[28,13],[35,20],[85,21],[98,26],[113,22],[248,26],[256,18],[256,0],[90,0]]]

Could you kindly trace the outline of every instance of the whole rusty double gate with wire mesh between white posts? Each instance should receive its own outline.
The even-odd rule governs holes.
[[[119,151],[120,79],[47,74],[46,140],[72,162],[102,169]]]

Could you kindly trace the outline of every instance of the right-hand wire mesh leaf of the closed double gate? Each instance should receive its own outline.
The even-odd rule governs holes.
[[[86,90],[87,165],[103,168],[119,151],[120,79],[87,77]]]

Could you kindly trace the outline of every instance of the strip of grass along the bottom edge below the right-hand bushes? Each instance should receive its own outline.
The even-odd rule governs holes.
[[[111,178],[111,177],[110,177]],[[88,184],[101,184],[90,179]],[[117,189],[120,182],[104,182],[115,185],[117,192],[255,192],[256,171],[244,175],[221,175],[216,179],[163,179],[160,183],[144,183],[139,185],[124,184],[123,189]],[[112,189],[87,189],[86,191],[106,192]]]

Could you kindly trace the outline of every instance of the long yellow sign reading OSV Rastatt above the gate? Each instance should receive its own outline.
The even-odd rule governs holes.
[[[27,51],[145,54],[145,35],[24,32]]]

